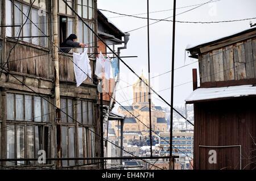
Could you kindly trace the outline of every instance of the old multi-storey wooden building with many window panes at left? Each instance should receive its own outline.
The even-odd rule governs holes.
[[[72,2],[68,4],[97,30],[97,0]],[[39,150],[46,151],[47,158],[99,157],[97,85],[88,78],[76,87],[72,53],[57,48],[75,33],[79,42],[92,47],[88,53],[96,53],[97,37],[57,0],[2,0],[1,25],[0,158],[38,158]],[[93,70],[94,56],[90,65]],[[58,99],[60,117],[56,117]],[[47,161],[46,166],[97,169],[97,162]],[[36,161],[10,161],[1,162],[0,167],[37,165]]]

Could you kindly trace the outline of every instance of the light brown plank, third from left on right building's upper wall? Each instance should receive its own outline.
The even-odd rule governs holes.
[[[234,80],[233,45],[223,48],[224,80]]]

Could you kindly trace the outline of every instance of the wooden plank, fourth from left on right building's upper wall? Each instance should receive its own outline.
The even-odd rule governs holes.
[[[245,52],[243,48],[243,43],[237,43],[233,47],[234,51],[234,70],[235,70],[235,79],[241,80],[246,78],[246,69],[245,69]]]

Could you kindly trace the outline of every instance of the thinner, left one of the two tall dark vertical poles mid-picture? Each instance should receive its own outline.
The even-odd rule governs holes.
[[[150,86],[150,31],[149,31],[149,0],[147,0],[147,56],[148,56],[148,104],[150,114],[150,157],[152,157],[152,125],[151,125],[151,86]]]

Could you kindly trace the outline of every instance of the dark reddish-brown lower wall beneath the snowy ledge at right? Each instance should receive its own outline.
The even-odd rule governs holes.
[[[242,146],[242,169],[256,169],[256,98],[237,98],[195,104],[194,168],[240,169],[240,148],[200,148]],[[216,150],[217,163],[210,164],[209,150]]]

